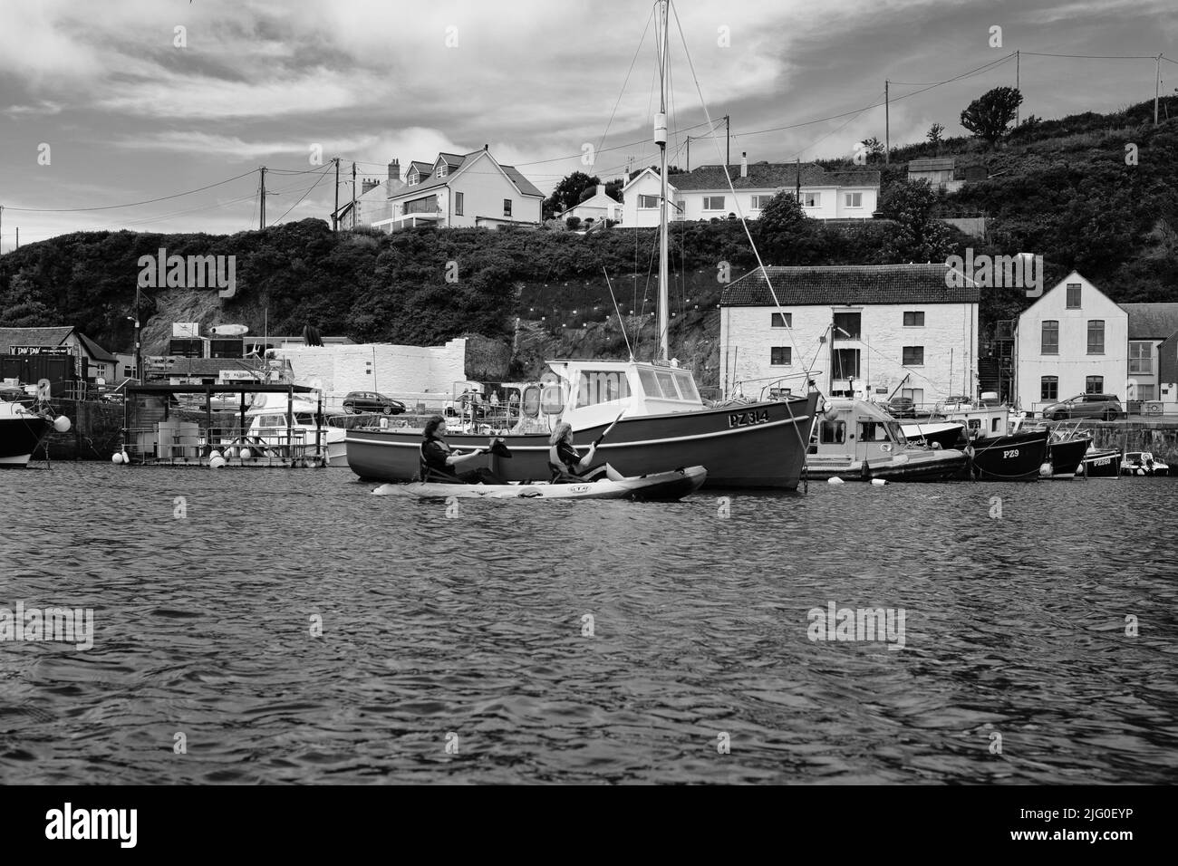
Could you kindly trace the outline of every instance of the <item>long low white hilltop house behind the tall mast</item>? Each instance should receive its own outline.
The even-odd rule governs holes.
[[[798,193],[806,214],[815,219],[869,219],[879,206],[878,171],[828,172],[814,163],[754,163],[742,158],[740,165],[724,167],[704,165],[667,178],[671,207],[669,218],[728,219],[756,218],[761,209],[782,190]],[[799,177],[800,176],[800,177]],[[659,225],[659,172],[646,168],[622,187],[622,225],[642,227]]]

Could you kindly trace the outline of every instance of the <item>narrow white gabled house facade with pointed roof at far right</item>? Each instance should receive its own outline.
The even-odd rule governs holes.
[[[1019,316],[1013,364],[1026,411],[1081,394],[1114,394],[1124,404],[1129,313],[1072,271]]]

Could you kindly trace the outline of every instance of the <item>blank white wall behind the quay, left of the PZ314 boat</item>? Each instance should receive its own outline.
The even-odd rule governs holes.
[[[274,356],[290,362],[296,384],[322,386],[332,411],[339,409],[349,391],[379,391],[416,401],[425,395],[449,395],[455,382],[466,378],[464,337],[444,346],[289,346],[276,349]]]

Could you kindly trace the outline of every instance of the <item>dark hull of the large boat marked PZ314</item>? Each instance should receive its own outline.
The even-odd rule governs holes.
[[[596,461],[624,476],[681,467],[707,469],[706,487],[796,489],[814,424],[818,392],[789,401],[717,406],[673,415],[622,417],[597,448]],[[582,449],[604,432],[600,424],[576,432]],[[548,435],[499,435],[511,458],[489,456],[464,469],[489,467],[507,482],[547,481]],[[450,434],[450,447],[489,448],[489,434]],[[421,431],[351,429],[348,464],[364,481],[408,482],[418,474]]]

